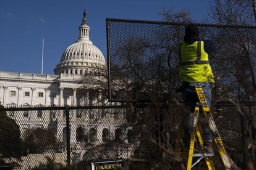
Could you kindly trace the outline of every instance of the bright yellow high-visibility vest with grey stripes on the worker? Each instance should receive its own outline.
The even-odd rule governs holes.
[[[208,54],[203,49],[203,41],[192,44],[182,42],[178,49],[180,66],[180,82],[211,82],[214,83],[213,72]]]

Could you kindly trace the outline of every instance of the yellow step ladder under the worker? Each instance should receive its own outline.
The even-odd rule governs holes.
[[[221,140],[220,134],[218,132],[218,129],[216,127],[215,121],[213,119],[213,116],[211,115],[211,110],[208,107],[207,100],[205,98],[205,94],[203,93],[203,88],[200,86],[200,83],[195,83],[195,91],[197,92],[197,96],[199,99],[199,102],[195,106],[194,111],[194,119],[192,124],[192,132],[191,132],[191,138],[190,138],[190,145],[189,145],[189,155],[187,160],[187,169],[192,169],[196,166],[197,163],[199,163],[203,158],[205,158],[205,161],[207,163],[208,169],[215,169],[215,166],[213,164],[213,161],[211,160],[212,156],[216,156],[216,153],[194,153],[194,145],[195,145],[195,138],[197,136],[200,147],[203,150],[203,139],[202,139],[202,128],[197,124],[198,118],[199,118],[199,112],[200,108],[203,111],[203,115],[208,120],[208,126],[210,127],[211,134],[213,135],[214,141],[213,143],[216,144],[218,147],[218,152],[220,153],[221,160],[223,161],[224,167],[226,169],[231,169],[231,161],[229,160],[229,156],[226,153],[226,150],[224,148],[223,142]],[[181,148],[181,137],[183,135],[183,127],[181,124],[181,127],[179,128],[179,134],[178,134],[178,140],[176,144],[176,153],[179,155],[179,150]],[[195,161],[192,164],[193,157],[199,157],[197,161]]]

